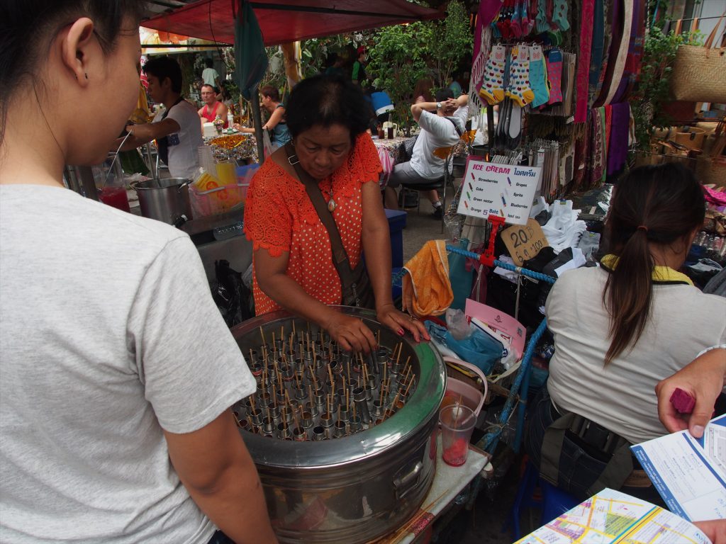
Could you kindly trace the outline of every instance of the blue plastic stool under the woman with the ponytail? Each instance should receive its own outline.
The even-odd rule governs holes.
[[[534,490],[539,486],[542,490],[542,496],[534,496]],[[565,493],[558,487],[551,485],[539,478],[539,472],[531,461],[527,461],[522,476],[522,481],[517,490],[517,496],[514,499],[512,511],[510,511],[509,519],[502,527],[502,531],[511,528],[514,540],[522,537],[519,527],[519,519],[522,511],[528,508],[540,508],[542,516],[539,519],[539,525],[542,526],[552,521],[556,517],[564,514],[571,508],[574,508],[582,501],[577,500],[569,493]]]

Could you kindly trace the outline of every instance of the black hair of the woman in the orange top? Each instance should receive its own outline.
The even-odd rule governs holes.
[[[351,81],[335,75],[316,75],[293,88],[285,115],[293,138],[314,125],[343,125],[354,144],[374,114],[360,88]]]

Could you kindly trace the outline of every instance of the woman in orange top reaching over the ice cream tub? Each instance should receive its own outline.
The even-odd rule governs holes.
[[[351,267],[366,255],[378,321],[401,336],[428,339],[391,300],[391,239],[378,186],[378,152],[366,133],[369,106],[340,78],[317,76],[293,89],[287,126],[299,165],[318,182],[332,210]],[[369,183],[372,182],[372,183]],[[264,162],[245,205],[245,233],[253,242],[256,313],[284,308],[322,326],[346,350],[369,351],[375,337],[362,321],[328,305],[342,289],[327,234],[285,148]]]

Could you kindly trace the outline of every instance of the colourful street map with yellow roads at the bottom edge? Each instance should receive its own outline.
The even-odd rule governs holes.
[[[659,506],[605,489],[516,544],[710,544],[698,527]]]

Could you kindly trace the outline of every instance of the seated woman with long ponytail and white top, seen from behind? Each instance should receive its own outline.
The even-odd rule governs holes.
[[[555,354],[526,447],[542,477],[578,498],[611,487],[658,501],[629,445],[667,432],[656,384],[726,342],[726,299],[678,272],[704,213],[701,184],[681,165],[632,170],[611,202],[609,254],[550,292]]]

